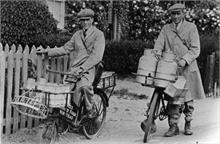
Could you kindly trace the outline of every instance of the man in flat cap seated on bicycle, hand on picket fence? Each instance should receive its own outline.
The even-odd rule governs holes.
[[[92,83],[95,77],[95,66],[103,57],[105,37],[103,32],[93,25],[93,10],[82,9],[78,13],[78,19],[81,29],[74,33],[70,41],[64,46],[46,50],[41,48],[38,51],[46,51],[48,56],[70,54],[70,73],[79,74],[88,71],[88,74],[85,74],[77,83],[77,90],[72,97],[72,102],[79,106],[81,92],[83,91],[88,117],[92,118],[95,114]]]

